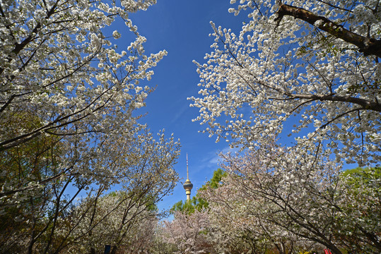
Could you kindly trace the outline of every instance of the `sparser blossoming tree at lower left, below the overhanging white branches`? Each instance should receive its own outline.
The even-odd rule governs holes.
[[[4,240],[1,238],[1,253],[60,253],[77,244],[88,246],[88,251],[91,248],[96,250],[101,242],[95,241],[98,244],[95,246],[90,243],[94,243],[95,236],[98,240],[109,239],[104,235],[107,230],[107,234],[112,230],[118,232],[112,235],[113,251],[116,251],[131,236],[135,223],[139,224],[145,218],[156,219],[153,215],[142,219],[141,214],[175,187],[178,176],[173,164],[179,155],[179,146],[173,138],[167,140],[164,134],[157,140],[150,133],[136,135],[128,142],[122,137],[106,140],[105,147],[108,148],[102,151],[105,157],[98,162],[110,170],[103,173],[105,175],[100,178],[103,181],[91,179],[92,174],[101,174],[100,171],[89,172],[88,177],[66,176],[43,186],[40,192],[34,190],[37,193],[35,197],[30,196],[32,193],[25,194],[30,199],[29,203],[1,204],[8,210],[8,207],[17,208],[20,213],[12,220],[23,222],[19,231],[13,231]],[[104,198],[112,188],[122,189],[126,194]],[[75,200],[79,196],[85,201],[76,205]],[[114,217],[115,220],[110,221]]]

